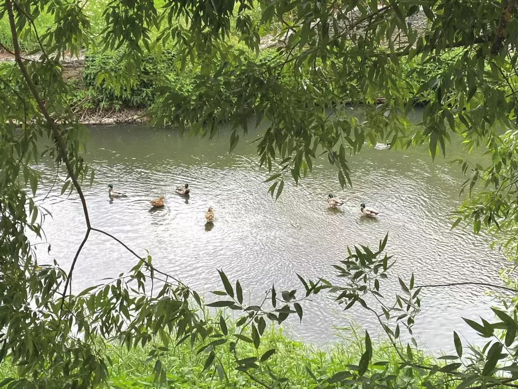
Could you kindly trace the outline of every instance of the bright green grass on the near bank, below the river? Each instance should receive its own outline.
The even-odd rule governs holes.
[[[268,368],[278,377],[287,378],[286,387],[303,389],[319,385],[310,376],[308,369],[316,378],[326,379],[339,371],[350,370],[348,365],[357,365],[364,352],[363,342],[364,340],[351,330],[337,343],[318,347],[293,340],[285,336],[281,329],[270,327],[262,338],[258,354],[261,355],[264,351],[275,348],[277,352],[268,359]],[[103,354],[109,356],[112,361],[109,367],[109,387],[112,389],[157,387],[157,384],[153,383],[152,372],[155,360],[146,362],[152,349],[152,346],[146,346],[128,351],[119,345],[103,346]],[[238,342],[239,355],[251,356],[256,353],[252,345]],[[197,349],[191,349],[188,342],[163,352],[161,362],[167,371],[167,387],[211,389],[261,387],[250,380],[246,374],[235,370],[236,364],[233,362],[232,355],[228,353],[228,348],[220,349],[217,354],[228,375],[228,381],[220,380],[214,369],[203,371],[206,358],[206,353],[197,354]],[[422,362],[427,359],[431,360],[431,358],[424,358]],[[374,344],[372,363],[380,360],[388,361],[389,364],[378,368],[371,367],[367,372],[368,375],[379,372],[386,376],[393,373],[398,366],[397,355],[389,344]],[[263,368],[266,368],[266,365],[263,365]],[[16,377],[16,369],[4,361],[3,365],[0,365],[0,381],[10,376]],[[267,378],[267,374],[265,377]],[[401,387],[412,389],[421,387],[425,378],[398,374],[397,382],[402,385]]]

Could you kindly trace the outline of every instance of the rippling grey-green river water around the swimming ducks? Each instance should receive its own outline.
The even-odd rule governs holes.
[[[397,263],[391,271],[394,276],[382,284],[386,296],[399,289],[396,275],[409,280],[412,272],[416,285],[500,283],[498,270],[506,259],[491,251],[490,240],[474,237],[469,230],[450,231],[447,215],[459,204],[458,187],[464,180],[458,167],[449,163],[461,155],[458,148],[450,147],[446,159],[432,162],[426,149],[366,146],[351,158],[352,189],[342,191],[336,170],[321,160],[298,186],[286,180],[275,201],[267,193],[269,184],[263,183],[267,172],[258,169],[254,139],[248,135],[229,155],[225,130],[210,141],[167,129],[91,128],[85,159],[96,176],[84,193],[92,225],[142,255],[147,249],[157,268],[198,290],[222,289],[217,269],[223,269],[231,281],[240,280],[251,303],[274,282],[278,290],[300,288],[295,273],[334,280],[332,264],[347,256],[348,245],[375,247],[387,231],[387,251]],[[52,249],[48,254],[46,245],[36,246],[39,259],[55,258],[68,269],[85,230],[81,204],[75,193],[68,199],[60,196],[59,184],[44,200],[55,168],[39,168],[44,185],[37,201],[53,216],[43,226]],[[183,183],[192,188],[188,201],[175,194]],[[109,201],[108,184],[128,197]],[[328,193],[348,199],[340,211],[327,209]],[[160,195],[166,206],[150,212],[150,199]],[[362,218],[361,202],[381,211],[381,216]],[[215,211],[211,230],[204,226],[208,206]],[[135,263],[116,242],[93,233],[77,262],[74,289],[117,276]],[[467,342],[474,339],[462,317],[490,315],[490,304],[480,287],[423,290],[423,312],[414,334],[430,351],[450,352],[453,330]],[[351,321],[371,335],[379,331],[375,318],[361,307],[343,312],[323,296],[303,307],[302,324],[293,321],[288,327],[306,341],[332,342],[336,328],[348,327]]]

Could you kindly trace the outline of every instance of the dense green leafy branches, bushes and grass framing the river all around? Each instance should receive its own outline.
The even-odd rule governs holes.
[[[421,10],[425,30],[407,23]],[[276,197],[287,175],[298,183],[321,152],[337,167],[340,184],[353,185],[348,156],[365,141],[426,144],[435,158],[439,150],[447,154],[452,136],[461,136],[468,148],[486,147],[492,163],[459,161],[470,174],[464,187],[472,196],[454,226],[509,238],[503,243],[515,260],[516,12],[516,0],[386,1],[382,7],[355,0],[0,0],[2,46],[16,57],[0,64],[0,386],[516,386],[514,269],[504,274],[504,289],[512,293],[499,296],[504,309],[480,322],[466,319],[485,346],[466,347],[454,332],[455,355],[440,360],[416,350],[412,327],[421,288],[414,276],[399,279],[396,296],[383,295],[396,260],[385,252],[388,235],[376,248],[351,248],[335,266],[339,284],[325,274],[313,281],[299,276],[297,290],[274,284],[263,301],[248,305],[246,286],[220,271],[223,287],[213,294],[221,299],[205,304],[150,257],[91,224],[81,186],[94,172],[81,157],[84,128],[70,107],[149,107],[156,123],[202,136],[226,121],[234,129],[231,151],[250,119],[265,122],[257,154],[270,172],[281,170],[268,180]],[[276,33],[283,43],[260,52],[260,38]],[[34,49],[42,51],[40,60],[24,59],[22,51]],[[80,49],[89,53],[88,89],[78,96],[63,81],[59,60]],[[344,102],[362,104],[366,120],[359,122]],[[419,103],[423,121],[410,126],[406,114]],[[52,142],[42,150],[39,140]],[[33,200],[41,158],[55,160],[66,173],[62,192],[77,191],[83,207],[85,235],[68,271],[39,263],[27,239],[27,231],[42,234]],[[137,263],[121,269],[118,279],[73,294],[74,268],[93,234],[123,244]],[[340,346],[308,354],[267,329],[289,316],[303,320],[304,300],[318,293],[344,309],[362,307],[378,320],[387,343],[374,348],[365,332],[349,354]],[[209,315],[206,307],[222,311]],[[124,348],[129,356],[121,354]],[[121,365],[122,358],[131,363],[144,353],[151,376]],[[180,368],[187,362],[192,375]]]

